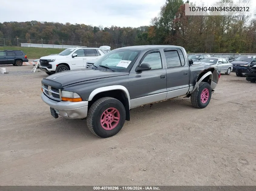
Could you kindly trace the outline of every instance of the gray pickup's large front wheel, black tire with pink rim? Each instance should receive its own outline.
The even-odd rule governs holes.
[[[122,129],[125,118],[125,107],[119,100],[102,97],[91,105],[86,120],[92,134],[107,138]]]

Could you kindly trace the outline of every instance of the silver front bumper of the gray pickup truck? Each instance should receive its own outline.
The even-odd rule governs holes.
[[[56,113],[67,119],[84,119],[87,117],[88,101],[54,101],[44,93],[41,94],[43,102],[52,107]]]

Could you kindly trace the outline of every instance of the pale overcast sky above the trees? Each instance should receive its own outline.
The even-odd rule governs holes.
[[[151,18],[157,16],[160,7],[165,4],[165,0],[0,1],[0,22],[35,20],[93,26],[102,25],[103,27],[111,27],[111,25],[119,27],[149,25]],[[254,2],[254,0],[252,1]],[[201,0],[190,0],[190,2],[200,3]],[[213,2],[213,0],[204,0],[203,2]]]

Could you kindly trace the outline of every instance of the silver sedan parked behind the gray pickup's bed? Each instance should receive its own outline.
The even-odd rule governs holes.
[[[230,72],[233,70],[233,65],[228,62],[225,58],[218,58],[218,57],[210,57],[201,59],[199,62],[194,62],[194,64],[207,64],[207,65],[215,65],[221,70],[221,73],[225,73],[229,75]]]

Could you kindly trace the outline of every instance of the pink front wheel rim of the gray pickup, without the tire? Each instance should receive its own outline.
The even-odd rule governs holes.
[[[112,130],[118,125],[119,120],[119,111],[114,107],[110,107],[101,115],[101,127],[105,130]]]

